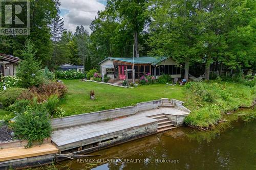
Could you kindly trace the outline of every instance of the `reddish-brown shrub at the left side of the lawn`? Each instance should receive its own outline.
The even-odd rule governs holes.
[[[63,98],[67,94],[67,87],[58,82],[50,82],[49,84],[42,84],[39,87],[31,87],[28,91],[20,94],[19,99],[32,100],[37,99],[41,103],[47,101],[51,95],[56,94],[58,98]]]

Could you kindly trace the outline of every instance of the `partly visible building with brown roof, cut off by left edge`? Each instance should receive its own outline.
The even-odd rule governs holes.
[[[15,76],[19,58],[0,53],[1,76]]]

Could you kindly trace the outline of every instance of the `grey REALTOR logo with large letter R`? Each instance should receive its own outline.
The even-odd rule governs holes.
[[[29,0],[0,0],[0,35],[29,35]]]

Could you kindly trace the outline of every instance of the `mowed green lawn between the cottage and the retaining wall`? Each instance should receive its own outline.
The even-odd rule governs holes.
[[[63,83],[68,87],[66,99],[61,102],[61,107],[66,110],[65,116],[132,106],[161,98],[184,99],[184,87],[178,85],[166,87],[165,84],[154,84],[122,88],[79,80],[63,80]],[[91,90],[94,90],[96,100],[90,100]]]

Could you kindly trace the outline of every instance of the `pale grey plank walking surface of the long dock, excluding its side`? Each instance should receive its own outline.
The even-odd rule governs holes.
[[[158,122],[158,120],[148,116],[158,114],[180,116],[189,113],[173,107],[143,111],[125,118],[57,130],[52,133],[52,141],[60,150],[65,150],[65,147],[68,145],[81,144],[81,142],[88,143],[87,141],[90,140],[92,142],[95,138],[104,138],[119,131],[153,124]],[[79,144],[77,147],[79,147]]]

